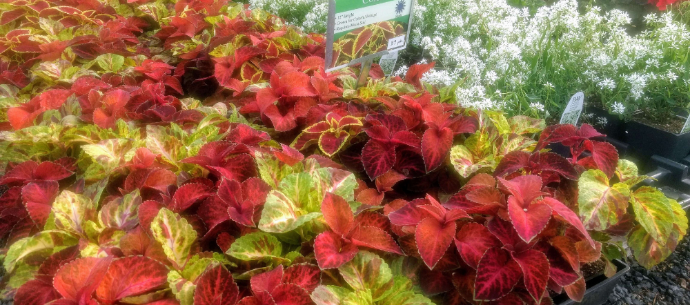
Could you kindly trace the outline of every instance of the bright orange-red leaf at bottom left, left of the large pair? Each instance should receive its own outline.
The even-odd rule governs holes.
[[[83,257],[65,264],[55,275],[55,289],[65,299],[88,301],[112,264],[111,261],[112,257]]]

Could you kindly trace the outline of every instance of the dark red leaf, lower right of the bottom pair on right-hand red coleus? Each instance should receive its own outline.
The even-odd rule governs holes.
[[[520,253],[513,252],[513,259],[520,265],[524,286],[529,295],[538,302],[546,291],[546,283],[549,282],[549,259],[538,250],[524,250]]]

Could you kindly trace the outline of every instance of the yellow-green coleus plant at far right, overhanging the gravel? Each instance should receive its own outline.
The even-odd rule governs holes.
[[[593,169],[578,181],[580,217],[588,230],[598,233],[595,237],[608,259],[625,257],[627,242],[640,265],[651,268],[666,259],[687,232],[687,217],[677,201],[657,188],[638,186],[648,178],[639,176],[631,161],[619,160],[612,179]]]

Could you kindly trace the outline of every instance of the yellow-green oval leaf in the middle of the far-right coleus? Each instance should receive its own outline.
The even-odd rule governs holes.
[[[638,188],[630,196],[635,220],[660,244],[665,244],[673,229],[673,209],[660,190],[650,186]]]

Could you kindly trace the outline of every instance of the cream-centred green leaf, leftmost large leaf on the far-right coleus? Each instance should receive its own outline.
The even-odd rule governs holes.
[[[587,170],[578,181],[580,218],[589,230],[606,230],[626,213],[630,188],[627,184],[609,186],[601,170]]]

